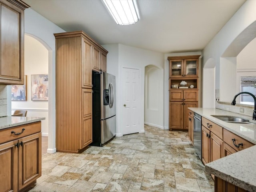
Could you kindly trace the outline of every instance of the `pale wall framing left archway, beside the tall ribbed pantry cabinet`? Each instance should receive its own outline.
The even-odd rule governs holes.
[[[31,8],[25,10],[24,30],[38,39],[48,49],[49,100],[48,100],[48,153],[56,152],[55,146],[55,38],[54,33],[65,32]],[[9,106],[11,107],[11,106]]]

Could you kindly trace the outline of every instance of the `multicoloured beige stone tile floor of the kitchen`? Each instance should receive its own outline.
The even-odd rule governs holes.
[[[187,132],[145,125],[82,154],[43,155],[30,192],[214,192],[214,181]]]

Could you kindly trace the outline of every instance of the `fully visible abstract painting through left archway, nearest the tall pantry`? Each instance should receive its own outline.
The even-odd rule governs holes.
[[[31,75],[31,100],[48,101],[48,74]]]

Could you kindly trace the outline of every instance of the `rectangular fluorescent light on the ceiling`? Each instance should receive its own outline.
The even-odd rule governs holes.
[[[118,25],[130,25],[138,22],[138,16],[132,0],[103,0],[108,11]]]

